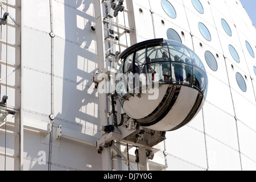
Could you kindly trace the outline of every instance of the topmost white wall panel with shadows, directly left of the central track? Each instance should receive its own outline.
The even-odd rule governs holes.
[[[92,14],[85,13],[81,7],[91,2],[65,1],[63,4],[53,1],[53,32],[61,38],[89,48],[93,36],[88,36],[88,33],[94,17]],[[92,6],[90,10],[92,11]]]

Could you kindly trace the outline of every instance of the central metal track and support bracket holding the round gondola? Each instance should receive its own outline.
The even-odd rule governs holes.
[[[122,170],[122,161],[130,170],[129,147],[136,147],[136,158],[139,156],[136,159],[138,170],[147,171],[148,159],[152,159],[154,153],[160,150],[154,146],[165,139],[165,133],[137,127],[134,119],[123,116],[113,88],[121,47],[126,49],[129,45],[137,43],[135,27],[126,26],[126,24],[135,25],[132,13],[133,1],[126,1],[126,6],[130,10],[123,6],[123,0],[93,2],[96,22],[91,28],[96,33],[98,71],[93,73],[92,82],[95,83],[96,88],[105,89],[105,92],[101,90],[99,93],[102,138],[95,143],[98,153],[102,155],[102,169],[113,170],[113,160],[117,160],[118,171]],[[115,18],[118,14],[123,15],[123,24]],[[128,17],[127,20],[125,17]],[[122,36],[125,36],[126,44],[119,42]],[[118,48],[119,50],[116,51]],[[121,146],[126,147],[127,157],[122,154]]]

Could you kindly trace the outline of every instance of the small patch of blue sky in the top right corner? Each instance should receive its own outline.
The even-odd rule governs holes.
[[[240,0],[240,2],[256,28],[256,0]]]

